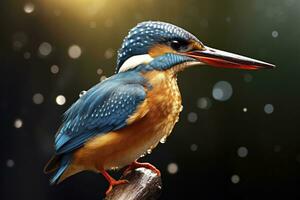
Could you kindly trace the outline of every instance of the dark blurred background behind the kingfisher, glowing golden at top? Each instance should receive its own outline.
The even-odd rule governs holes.
[[[278,66],[200,66],[179,75],[181,119],[142,159],[162,172],[161,199],[299,199],[299,10],[298,0],[2,0],[0,199],[101,199],[101,175],[84,172],[49,186],[42,169],[63,112],[113,74],[123,37],[144,20],[174,23],[208,46]],[[77,59],[68,54],[74,44]],[[213,98],[218,81],[232,85],[227,101]],[[203,97],[209,108],[199,108]],[[169,173],[170,163],[177,173]]]

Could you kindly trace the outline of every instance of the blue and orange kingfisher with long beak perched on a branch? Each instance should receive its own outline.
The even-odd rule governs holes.
[[[108,194],[127,180],[108,170],[128,166],[160,171],[138,158],[170,135],[182,110],[177,74],[191,66],[245,70],[272,69],[273,64],[205,46],[188,31],[170,23],[137,24],[118,51],[115,74],[86,91],[64,113],[55,135],[55,153],[45,166],[52,184],[81,172],[101,173]]]

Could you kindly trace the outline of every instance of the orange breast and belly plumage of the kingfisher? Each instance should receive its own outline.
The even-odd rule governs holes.
[[[95,137],[77,150],[73,164],[82,169],[123,167],[167,137],[182,109],[176,75],[172,71],[144,74],[153,89],[146,101],[128,119],[127,127]]]

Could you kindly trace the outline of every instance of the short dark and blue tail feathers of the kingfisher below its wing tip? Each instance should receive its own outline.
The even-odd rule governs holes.
[[[50,179],[50,184],[59,183],[61,176],[66,171],[66,169],[71,164],[71,155],[54,155],[44,168],[45,173],[54,172],[52,178]]]

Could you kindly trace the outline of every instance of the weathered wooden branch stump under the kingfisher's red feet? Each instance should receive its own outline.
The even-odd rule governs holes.
[[[129,183],[115,186],[105,200],[156,200],[160,196],[161,177],[149,169],[135,169],[121,179]]]

